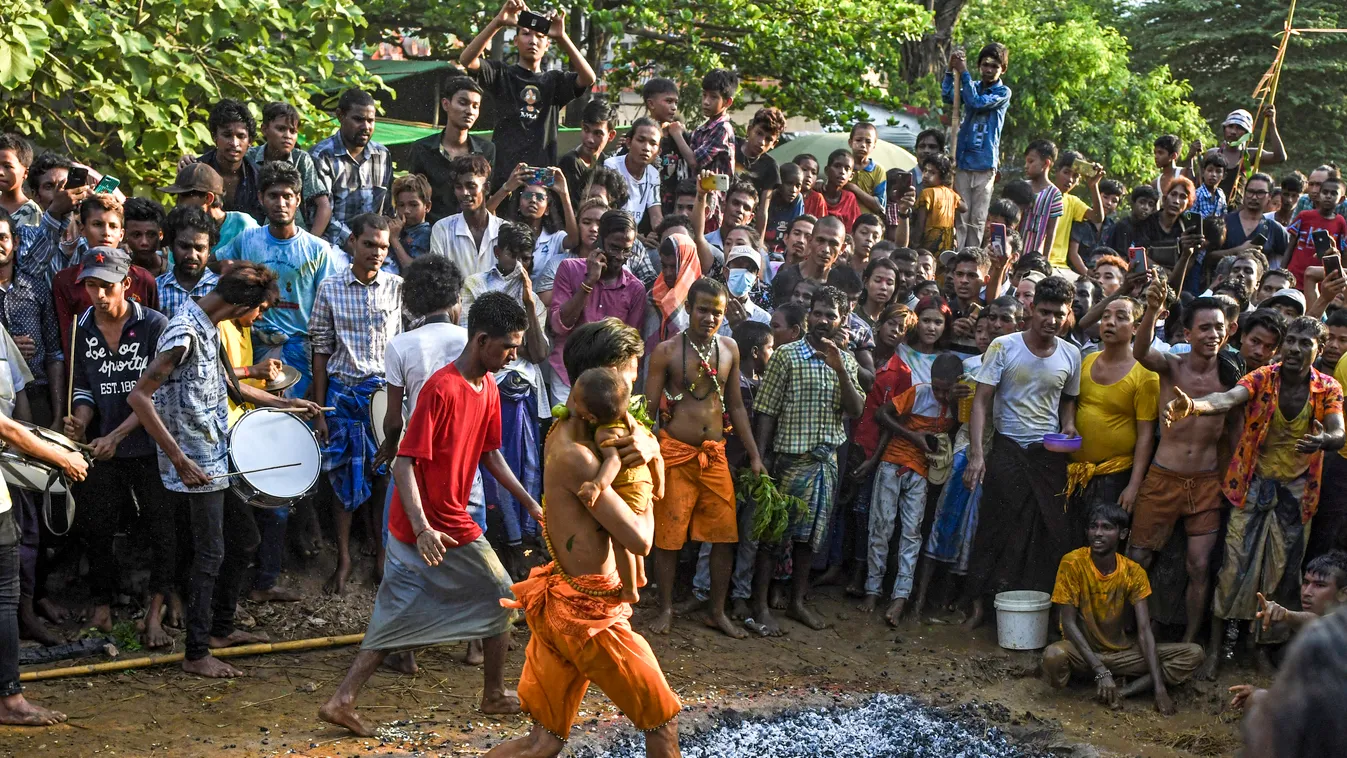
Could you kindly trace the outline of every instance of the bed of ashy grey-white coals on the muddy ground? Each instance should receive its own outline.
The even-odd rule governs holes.
[[[787,708],[745,716],[730,711],[684,731],[684,758],[1039,758],[968,708],[938,710],[901,695],[855,707]],[[640,734],[577,746],[577,758],[638,758]]]

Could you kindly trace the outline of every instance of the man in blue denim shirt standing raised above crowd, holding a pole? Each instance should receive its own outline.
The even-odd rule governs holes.
[[[958,246],[982,246],[982,228],[991,203],[991,183],[1001,159],[1001,128],[1010,105],[1010,88],[1001,83],[1001,74],[1010,62],[1010,51],[999,42],[989,42],[978,53],[982,81],[973,83],[963,50],[950,57],[950,70],[940,83],[946,102],[954,102],[954,77],[959,75],[963,113],[959,123],[958,166],[954,191],[963,198],[967,211],[959,218]]]

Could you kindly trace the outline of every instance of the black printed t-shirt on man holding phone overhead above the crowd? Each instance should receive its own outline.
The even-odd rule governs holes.
[[[517,63],[482,61],[477,79],[496,98],[500,117],[492,132],[496,164],[492,188],[509,179],[520,163],[556,166],[556,125],[560,109],[589,88],[577,85],[575,71],[529,71]]]

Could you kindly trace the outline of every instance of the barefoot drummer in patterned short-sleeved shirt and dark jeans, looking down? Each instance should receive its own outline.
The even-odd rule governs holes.
[[[296,408],[302,417],[318,415],[318,407],[307,400],[273,397],[225,376],[216,324],[275,303],[276,298],[275,272],[253,263],[232,267],[210,294],[187,300],[170,319],[158,354],[129,399],[136,417],[159,444],[163,485],[186,493],[191,509],[195,555],[182,668],[206,677],[242,675],[211,656],[213,648],[265,640],[234,629],[234,607],[257,547],[257,525],[251,509],[228,493],[226,397],[236,392],[259,407]]]

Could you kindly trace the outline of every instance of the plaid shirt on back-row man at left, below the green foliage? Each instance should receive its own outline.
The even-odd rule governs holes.
[[[341,246],[350,237],[348,223],[362,213],[383,213],[393,180],[393,159],[388,148],[370,141],[360,158],[352,158],[341,132],[314,145],[308,152],[331,191],[333,219],[323,238]]]

